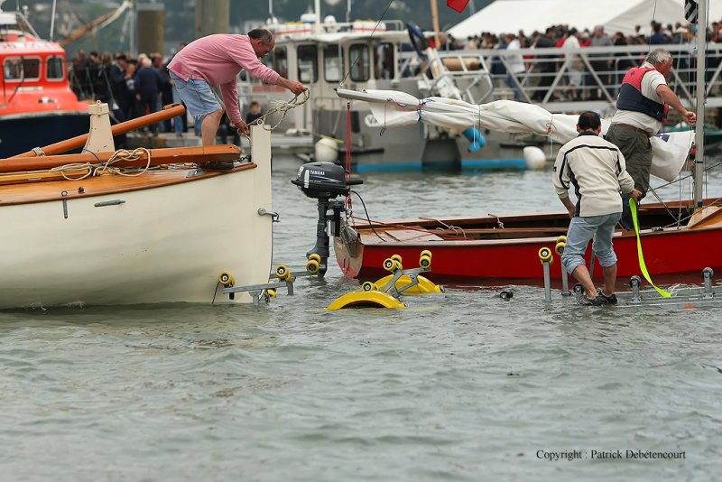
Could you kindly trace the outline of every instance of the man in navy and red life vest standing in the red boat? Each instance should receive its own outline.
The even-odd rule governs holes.
[[[670,74],[671,64],[670,52],[657,49],[647,55],[640,67],[627,71],[616,100],[616,114],[606,133],[606,140],[624,154],[626,171],[634,179],[634,189],[642,192],[642,198],[649,190],[652,167],[649,139],[662,127],[668,108],[680,112],[690,125],[697,121],[695,113],[682,106],[680,97],[667,87],[665,77]],[[623,198],[623,208],[622,227],[631,231],[634,225],[628,197]]]

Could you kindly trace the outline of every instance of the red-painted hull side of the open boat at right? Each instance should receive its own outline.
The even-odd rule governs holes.
[[[376,228],[378,230],[378,227]],[[387,231],[384,231],[386,233]],[[554,250],[558,236],[525,237],[495,240],[420,240],[378,242],[373,232],[359,231],[361,240],[354,253],[339,239],[335,239],[338,265],[349,277],[373,279],[387,274],[382,264],[391,255],[401,255],[403,265],[417,267],[421,251],[431,251],[430,279],[440,281],[519,281],[542,283],[543,269],[539,250]],[[382,233],[382,236],[384,236]],[[564,234],[560,232],[560,235]],[[387,241],[389,236],[384,236]],[[669,229],[643,232],[644,261],[652,275],[699,274],[705,267],[722,269],[722,227],[697,229]],[[693,246],[693,247],[692,247]],[[614,247],[618,257],[617,275],[641,275],[634,233],[616,233]],[[551,277],[561,277],[559,255],[553,254]],[[587,259],[590,258],[590,249]],[[597,263],[595,277],[601,277]]]

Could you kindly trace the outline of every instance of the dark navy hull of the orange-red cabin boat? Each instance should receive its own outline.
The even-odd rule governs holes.
[[[88,134],[88,111],[0,116],[0,159]]]

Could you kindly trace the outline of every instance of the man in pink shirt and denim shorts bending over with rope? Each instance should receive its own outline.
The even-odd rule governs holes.
[[[247,35],[218,33],[190,42],[168,64],[173,88],[190,115],[196,120],[202,119],[203,145],[214,144],[224,106],[231,124],[248,132],[238,108],[236,91],[236,77],[241,70],[267,84],[288,88],[297,96],[307,90],[301,82],[282,78],[259,60],[272,51],[274,45],[273,33],[265,29],[254,29]],[[218,86],[223,101],[213,91]]]

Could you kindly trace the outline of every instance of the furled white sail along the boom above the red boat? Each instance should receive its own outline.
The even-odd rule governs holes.
[[[551,114],[542,107],[513,100],[469,104],[446,97],[417,98],[396,90],[337,88],[336,92],[338,97],[367,102],[384,129],[423,122],[452,131],[477,127],[512,134],[549,135],[556,143],[566,143],[577,136],[579,116]],[[608,127],[609,121],[602,119],[603,134]],[[674,181],[690,153],[693,136],[692,131],[654,136],[652,174]]]

